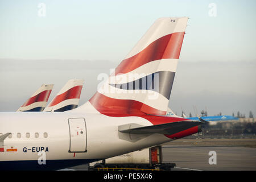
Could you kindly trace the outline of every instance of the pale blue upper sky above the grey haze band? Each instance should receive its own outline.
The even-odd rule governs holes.
[[[46,16],[38,16],[38,5]],[[217,16],[209,16],[210,3]],[[181,59],[255,60],[256,1],[0,1],[0,56],[120,61],[155,19],[188,16]]]

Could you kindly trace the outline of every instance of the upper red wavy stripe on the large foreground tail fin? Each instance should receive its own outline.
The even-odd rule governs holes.
[[[179,59],[185,32],[175,32],[159,38],[128,59],[123,60],[117,68],[115,75],[128,73],[141,67],[143,64],[160,59]]]

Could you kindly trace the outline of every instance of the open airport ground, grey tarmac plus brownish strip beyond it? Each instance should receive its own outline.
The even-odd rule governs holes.
[[[162,146],[163,163],[176,163],[174,171],[255,171],[255,146],[256,139],[179,139]],[[69,169],[86,171],[88,165]]]

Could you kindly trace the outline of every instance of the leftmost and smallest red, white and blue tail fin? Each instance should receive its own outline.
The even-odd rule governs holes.
[[[53,84],[43,84],[17,111],[40,112],[46,107]]]

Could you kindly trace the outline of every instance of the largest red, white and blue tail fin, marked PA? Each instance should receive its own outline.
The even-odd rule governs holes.
[[[187,21],[157,19],[84,109],[92,105],[103,114],[165,115]]]

